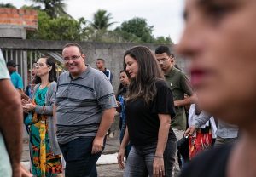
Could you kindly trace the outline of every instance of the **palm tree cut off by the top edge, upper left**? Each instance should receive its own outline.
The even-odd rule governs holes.
[[[51,18],[57,18],[59,16],[68,16],[71,15],[67,14],[65,11],[66,3],[63,3],[64,0],[31,0],[34,3],[39,3],[44,5],[44,11],[49,14]]]

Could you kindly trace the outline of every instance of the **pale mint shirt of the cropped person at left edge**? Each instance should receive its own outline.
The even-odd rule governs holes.
[[[9,79],[9,72],[5,62],[0,54],[0,80]],[[1,118],[1,116],[0,116]],[[4,145],[3,136],[0,132],[0,176],[12,176],[12,168],[9,161],[9,155]]]

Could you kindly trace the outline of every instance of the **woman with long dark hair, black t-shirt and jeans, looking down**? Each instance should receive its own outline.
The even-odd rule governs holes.
[[[154,54],[147,47],[127,50],[124,67],[131,83],[125,106],[127,127],[119,148],[119,167],[124,168],[125,146],[130,140],[132,147],[124,176],[171,176],[176,152],[176,137],[170,128],[171,118],[175,115],[172,91],[163,80]]]

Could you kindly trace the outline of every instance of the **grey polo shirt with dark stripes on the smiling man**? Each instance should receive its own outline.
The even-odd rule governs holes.
[[[68,71],[61,74],[55,105],[57,138],[61,144],[96,136],[103,111],[117,107],[108,78],[90,66],[74,79]]]

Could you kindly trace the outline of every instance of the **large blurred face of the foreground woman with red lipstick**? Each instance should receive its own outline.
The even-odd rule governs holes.
[[[255,0],[186,3],[186,26],[177,52],[191,60],[191,83],[201,108],[230,123],[254,116],[255,9]]]

